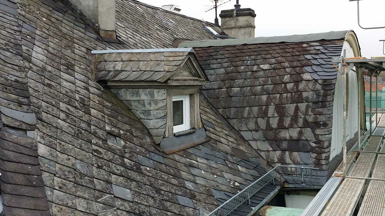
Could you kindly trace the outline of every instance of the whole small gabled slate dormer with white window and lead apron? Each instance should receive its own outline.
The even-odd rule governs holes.
[[[92,54],[95,80],[132,110],[161,150],[171,153],[207,141],[199,114],[206,75],[191,48]]]

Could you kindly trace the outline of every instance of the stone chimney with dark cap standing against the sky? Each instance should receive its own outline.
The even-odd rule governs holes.
[[[234,9],[222,10],[221,28],[224,33],[234,38],[253,38],[254,37],[254,18],[255,13],[251,8],[241,8],[237,0]]]

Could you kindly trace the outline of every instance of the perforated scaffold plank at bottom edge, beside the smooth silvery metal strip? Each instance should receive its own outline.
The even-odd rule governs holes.
[[[352,216],[364,185],[364,179],[346,178],[326,206],[322,216]]]

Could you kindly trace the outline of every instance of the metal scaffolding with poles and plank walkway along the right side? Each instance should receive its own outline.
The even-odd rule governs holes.
[[[362,196],[365,184],[368,185],[359,216],[385,215],[385,115],[379,114],[377,95],[377,76],[385,71],[385,58],[333,58],[332,62],[341,64],[343,80],[343,161],[325,186],[305,209],[302,216],[352,216]],[[337,66],[336,66],[337,68]],[[354,69],[355,68],[355,69]],[[338,69],[338,68],[337,68]],[[346,73],[354,71],[358,78],[358,140],[346,152]],[[363,73],[370,77],[370,127],[361,135],[361,98],[363,93]],[[375,77],[375,115],[372,115],[372,77]],[[365,112],[364,112],[365,113]],[[372,118],[373,116],[373,118]],[[372,167],[374,165],[374,169]]]

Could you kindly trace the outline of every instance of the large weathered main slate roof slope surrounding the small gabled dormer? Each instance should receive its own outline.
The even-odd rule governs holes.
[[[89,68],[91,50],[152,45],[102,42],[66,2],[15,2],[0,0],[5,216],[196,216],[220,204],[212,189],[237,193],[260,176],[248,161],[269,167],[204,98],[201,117],[211,140],[160,153],[141,121]],[[171,48],[169,39],[159,41]]]

